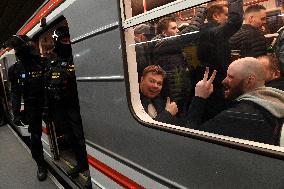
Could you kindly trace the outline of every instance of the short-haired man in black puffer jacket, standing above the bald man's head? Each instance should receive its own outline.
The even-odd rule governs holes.
[[[230,39],[232,50],[240,50],[241,57],[258,57],[266,54],[263,27],[266,24],[266,8],[251,5],[244,12],[244,24]]]

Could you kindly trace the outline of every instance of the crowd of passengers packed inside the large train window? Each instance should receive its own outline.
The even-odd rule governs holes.
[[[136,45],[136,50],[144,49],[136,56],[144,57],[143,63],[137,61],[137,70],[145,111],[157,121],[280,145],[282,31],[275,51],[268,52],[264,6],[243,10],[242,0],[228,0],[197,10],[181,27],[173,17],[160,19],[151,33],[155,37]],[[194,55],[188,59],[185,53],[193,45],[197,64]]]

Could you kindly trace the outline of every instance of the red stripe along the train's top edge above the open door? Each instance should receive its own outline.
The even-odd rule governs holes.
[[[53,11],[59,4],[61,4],[64,0],[50,0],[46,3],[38,13],[25,25],[19,32],[19,35],[27,34],[35,25],[37,25],[40,20],[48,15],[51,11]]]

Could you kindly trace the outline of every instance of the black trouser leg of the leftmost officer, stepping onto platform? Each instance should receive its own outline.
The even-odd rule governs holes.
[[[26,118],[31,133],[31,153],[38,166],[44,164],[42,135],[42,107],[38,105],[25,104]]]

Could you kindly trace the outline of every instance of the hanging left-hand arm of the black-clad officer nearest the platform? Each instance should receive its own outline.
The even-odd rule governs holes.
[[[15,62],[8,69],[8,77],[11,83],[11,101],[14,119],[16,125],[23,125],[20,120],[21,99],[25,80],[25,70],[20,61]]]

